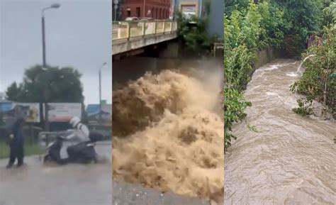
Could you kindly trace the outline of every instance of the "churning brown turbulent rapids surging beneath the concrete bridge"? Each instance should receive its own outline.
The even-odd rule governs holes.
[[[219,202],[223,75],[190,73],[147,73],[113,91],[113,179]]]

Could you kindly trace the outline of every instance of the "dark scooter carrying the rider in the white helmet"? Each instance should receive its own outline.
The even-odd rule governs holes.
[[[95,150],[96,142],[103,139],[100,133],[91,132],[89,141],[78,143],[67,148],[67,158],[62,158],[60,151],[63,142],[67,140],[63,136],[57,135],[55,143],[47,147],[47,153],[43,157],[43,162],[56,162],[58,165],[66,165],[68,163],[89,164],[97,163],[98,154]]]

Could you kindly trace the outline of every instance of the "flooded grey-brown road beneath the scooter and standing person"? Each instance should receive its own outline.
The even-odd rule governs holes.
[[[96,145],[111,160],[111,142]],[[6,170],[0,160],[1,205],[111,205],[111,162],[91,165],[43,165],[39,156],[26,166]]]

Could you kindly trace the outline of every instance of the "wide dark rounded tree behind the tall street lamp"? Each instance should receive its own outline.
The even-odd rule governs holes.
[[[35,65],[26,70],[23,82],[13,82],[6,91],[7,99],[21,102],[82,102],[82,74],[72,67],[47,67]]]

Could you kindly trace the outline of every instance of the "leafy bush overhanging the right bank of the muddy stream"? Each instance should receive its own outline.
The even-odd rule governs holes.
[[[318,40],[318,39],[317,39]],[[325,106],[325,112],[330,109],[333,117],[336,118],[336,28],[324,29],[324,35],[320,44],[310,47],[302,57],[314,55],[305,62],[306,71],[302,77],[291,86],[292,92],[298,92],[305,95],[301,101],[298,101],[298,108],[294,109],[296,113],[309,115],[311,111],[311,102],[318,101]],[[309,103],[308,103],[309,102]]]

